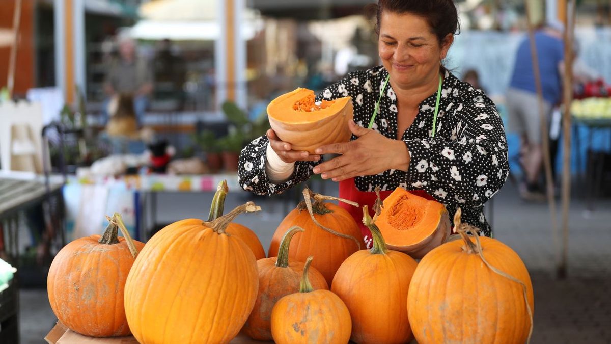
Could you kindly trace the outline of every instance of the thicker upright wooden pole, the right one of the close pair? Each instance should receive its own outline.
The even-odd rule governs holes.
[[[569,205],[571,204],[571,102],[573,102],[573,40],[577,17],[576,0],[571,0],[565,16],[565,78],[563,111],[562,162],[562,257],[556,269],[559,279],[565,279],[568,267]]]

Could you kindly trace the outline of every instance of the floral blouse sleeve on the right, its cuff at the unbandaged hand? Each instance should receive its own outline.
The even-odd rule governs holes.
[[[505,184],[507,138],[491,102],[457,107],[450,140],[405,140],[411,156],[406,178],[441,203],[475,208]]]

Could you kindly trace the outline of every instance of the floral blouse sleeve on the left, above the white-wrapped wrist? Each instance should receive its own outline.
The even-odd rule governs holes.
[[[354,78],[353,74],[349,74],[343,80],[324,89],[320,94],[316,95],[316,102],[320,102],[323,99],[331,100],[346,97],[348,94],[345,84],[349,82],[351,78]],[[295,162],[295,171],[293,171],[291,177],[285,182],[274,184],[269,180],[265,171],[265,164],[267,162],[266,149],[268,143],[268,137],[263,135],[260,138],[256,138],[242,149],[238,168],[238,178],[243,190],[250,190],[257,193],[257,195],[274,195],[275,193],[282,193],[290,187],[307,181],[310,176],[312,176],[314,166],[323,162],[323,159],[318,162]]]

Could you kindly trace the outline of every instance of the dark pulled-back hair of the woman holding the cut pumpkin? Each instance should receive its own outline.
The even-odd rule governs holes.
[[[448,34],[459,34],[458,11],[453,0],[378,0],[378,4],[368,6],[368,12],[376,17],[376,33],[380,33],[382,12],[413,13],[426,19],[433,29],[439,45]],[[373,13],[371,13],[373,14]]]

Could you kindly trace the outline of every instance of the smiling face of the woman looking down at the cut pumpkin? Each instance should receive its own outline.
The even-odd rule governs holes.
[[[442,47],[425,18],[412,13],[382,12],[378,52],[390,80],[401,88],[422,86],[436,78],[453,36]]]

